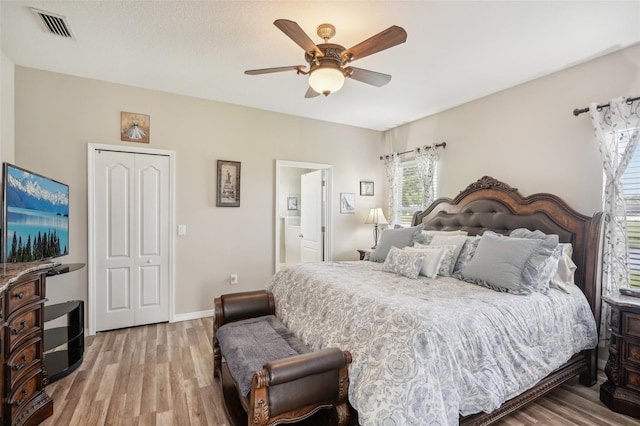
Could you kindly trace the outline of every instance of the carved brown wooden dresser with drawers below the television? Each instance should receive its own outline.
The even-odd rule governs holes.
[[[53,414],[44,391],[45,279],[51,264],[0,264],[2,425],[37,425]]]

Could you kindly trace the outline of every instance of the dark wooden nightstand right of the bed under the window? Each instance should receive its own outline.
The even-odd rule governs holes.
[[[600,401],[611,410],[640,418],[640,298],[602,296],[611,306],[607,380]]]

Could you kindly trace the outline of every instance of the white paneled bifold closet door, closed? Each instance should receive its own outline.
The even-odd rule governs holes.
[[[169,320],[169,157],[98,151],[96,331]]]

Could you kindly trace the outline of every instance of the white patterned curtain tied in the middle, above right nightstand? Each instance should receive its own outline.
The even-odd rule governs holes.
[[[629,286],[629,253],[622,175],[633,156],[640,134],[640,102],[613,99],[609,107],[592,103],[589,115],[605,173],[602,284],[605,294]],[[623,142],[623,143],[621,143]],[[604,315],[603,315],[604,317]]]

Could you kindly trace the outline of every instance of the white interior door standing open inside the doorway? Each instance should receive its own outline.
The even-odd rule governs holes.
[[[300,176],[300,261],[323,261],[323,171]]]

